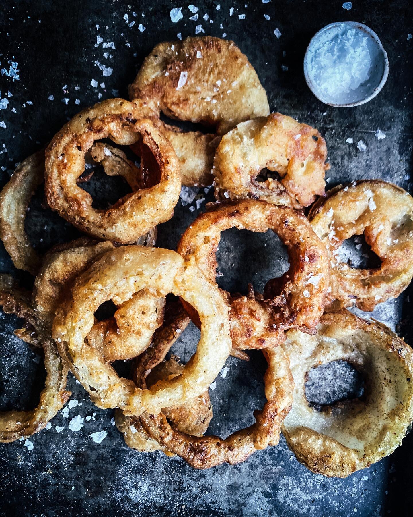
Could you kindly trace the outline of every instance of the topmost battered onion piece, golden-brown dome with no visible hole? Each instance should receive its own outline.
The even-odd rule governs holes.
[[[233,41],[211,36],[159,43],[129,86],[131,99],[179,120],[215,126],[224,134],[269,113],[264,88]]]

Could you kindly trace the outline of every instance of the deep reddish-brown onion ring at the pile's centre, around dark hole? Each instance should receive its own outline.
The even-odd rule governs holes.
[[[288,247],[291,263],[290,270],[281,279],[275,279],[277,285],[271,281],[267,284],[267,300],[253,292],[248,297],[231,297],[221,291],[231,307],[233,348],[271,348],[285,339],[284,331],[288,328],[314,328],[325,306],[329,263],[324,246],[307,219],[291,208],[265,201],[217,204],[185,231],[178,253],[185,260],[194,257],[204,275],[215,282],[221,232],[231,227],[253,232],[271,228]],[[194,310],[184,306],[197,323]]]

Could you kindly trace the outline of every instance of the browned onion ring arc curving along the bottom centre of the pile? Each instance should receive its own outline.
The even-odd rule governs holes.
[[[144,413],[140,417],[141,424],[152,438],[194,468],[210,468],[222,463],[233,465],[246,460],[258,449],[278,445],[280,425],[290,410],[294,384],[288,358],[280,346],[265,351],[265,357],[267,401],[261,411],[255,412],[256,423],[249,428],[223,439],[214,435],[197,437],[181,431],[169,423],[163,413]]]

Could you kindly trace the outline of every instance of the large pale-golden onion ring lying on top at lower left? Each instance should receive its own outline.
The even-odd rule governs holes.
[[[169,292],[196,310],[201,339],[182,374],[149,389],[137,388],[119,378],[102,355],[87,346],[85,337],[94,324],[93,313],[106,300],[120,304],[134,293],[154,288],[158,296]],[[124,246],[106,253],[77,280],[72,299],[60,306],[53,323],[59,352],[68,358],[74,375],[102,408],[119,407],[128,415],[145,410],[159,413],[179,406],[208,388],[231,351],[228,307],[215,285],[205,279],[195,263],[170,250]]]

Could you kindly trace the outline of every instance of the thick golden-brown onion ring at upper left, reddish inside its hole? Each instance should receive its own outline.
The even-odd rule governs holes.
[[[141,169],[158,172],[160,183],[128,194],[107,210],[76,185],[85,170],[85,153],[95,140],[120,145],[140,142]],[[51,208],[78,229],[128,244],[171,218],[181,189],[179,163],[171,145],[140,106],[123,99],[94,105],[69,121],[46,150],[45,193]]]

